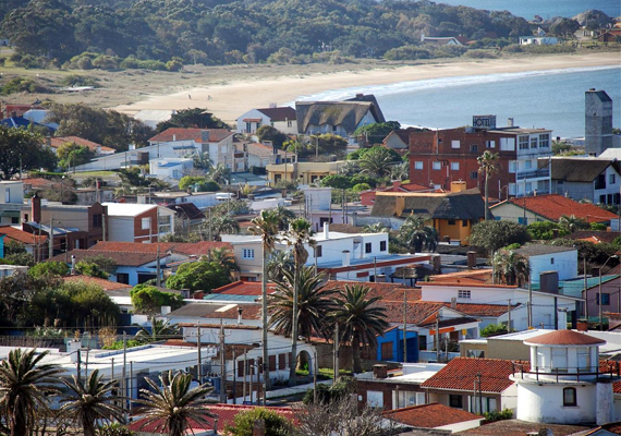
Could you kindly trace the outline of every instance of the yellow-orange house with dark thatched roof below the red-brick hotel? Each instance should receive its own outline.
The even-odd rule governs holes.
[[[485,202],[478,189],[464,190],[455,183],[454,192],[377,192],[370,213],[375,217],[407,218],[416,215],[433,226],[440,241],[467,245],[472,227],[485,218]]]

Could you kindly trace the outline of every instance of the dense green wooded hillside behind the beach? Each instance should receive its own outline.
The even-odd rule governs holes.
[[[395,0],[13,0],[0,20],[17,64],[84,70],[399,59],[422,35],[507,45],[531,33],[507,11]]]

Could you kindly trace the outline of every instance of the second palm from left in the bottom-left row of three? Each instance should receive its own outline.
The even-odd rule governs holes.
[[[70,419],[82,424],[84,436],[95,436],[95,423],[97,420],[114,419],[124,422],[124,411],[121,407],[111,402],[115,397],[112,390],[117,380],[104,383],[99,370],[95,370],[85,382],[72,376],[73,383],[62,380],[69,388],[69,393],[61,402],[59,417]]]

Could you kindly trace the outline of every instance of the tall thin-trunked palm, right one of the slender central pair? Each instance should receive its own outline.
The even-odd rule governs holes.
[[[312,225],[304,218],[297,218],[290,222],[289,231],[287,232],[289,245],[293,246],[293,304],[292,304],[292,328],[291,328],[291,355],[292,359],[297,359],[297,299],[300,295],[300,272],[306,261],[308,259],[308,252],[304,244],[314,245],[315,240],[312,239],[313,230]],[[290,365],[289,368],[289,386],[295,386],[295,366]]]

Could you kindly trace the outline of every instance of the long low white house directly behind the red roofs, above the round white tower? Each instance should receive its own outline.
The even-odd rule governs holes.
[[[568,313],[577,312],[577,305],[583,299],[560,295],[549,292],[528,291],[514,286],[506,284],[472,284],[472,283],[435,283],[418,282],[422,290],[422,301],[441,301],[474,304],[498,304],[508,306],[509,304],[519,304],[504,315],[498,317],[501,323],[509,322],[511,316],[511,326],[515,330],[525,330],[528,326],[528,307],[532,302],[533,320],[531,326],[543,326],[543,328],[557,328],[567,323],[567,317],[562,316],[565,310]],[[532,298],[529,298],[532,295]],[[531,301],[529,301],[531,300]],[[480,328],[485,325],[482,323]]]

